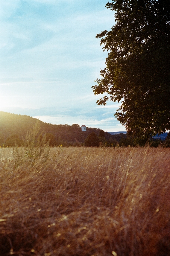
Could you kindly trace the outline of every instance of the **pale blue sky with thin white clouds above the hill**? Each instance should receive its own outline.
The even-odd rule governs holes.
[[[92,86],[108,55],[96,38],[115,24],[107,0],[1,0],[0,110],[52,124],[125,131]]]

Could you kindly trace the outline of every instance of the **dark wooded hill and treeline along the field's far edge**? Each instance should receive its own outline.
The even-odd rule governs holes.
[[[15,146],[15,143],[23,145],[23,139],[36,122],[40,126],[38,136],[44,138],[45,143],[49,142],[50,146],[137,146],[132,138],[123,133],[112,135],[99,128],[89,127],[87,131],[82,131],[78,124],[53,125],[30,116],[3,111],[0,111],[0,146]],[[147,145],[170,147],[170,133],[164,141],[150,139]]]

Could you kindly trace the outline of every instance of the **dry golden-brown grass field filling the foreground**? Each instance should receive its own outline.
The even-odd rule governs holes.
[[[0,148],[0,255],[170,255],[170,148]]]

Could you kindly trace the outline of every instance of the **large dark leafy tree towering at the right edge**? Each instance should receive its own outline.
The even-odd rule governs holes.
[[[146,142],[170,129],[170,2],[112,1],[116,23],[97,35],[108,57],[93,91],[105,94],[98,105],[121,101],[118,121]]]

